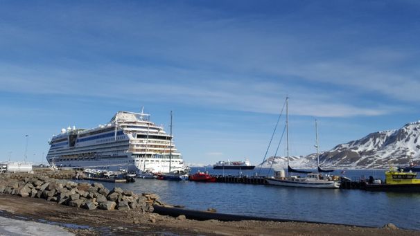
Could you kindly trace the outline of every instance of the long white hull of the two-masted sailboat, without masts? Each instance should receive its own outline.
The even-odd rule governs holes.
[[[305,180],[305,179],[265,179],[270,185],[298,188],[340,188],[339,181]]]

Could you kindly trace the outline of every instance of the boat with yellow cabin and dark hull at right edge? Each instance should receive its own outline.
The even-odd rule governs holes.
[[[420,179],[416,172],[404,172],[390,168],[385,172],[385,183],[368,183],[366,190],[393,192],[420,192]]]

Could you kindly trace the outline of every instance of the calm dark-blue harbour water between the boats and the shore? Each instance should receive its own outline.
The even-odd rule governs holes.
[[[206,171],[205,168],[192,168]],[[212,170],[210,174],[248,175],[256,170]],[[260,174],[267,174],[263,169]],[[333,174],[340,174],[336,171]],[[272,174],[272,172],[271,172]],[[345,170],[344,176],[383,179],[383,170]],[[367,192],[364,190],[324,190],[285,188],[272,185],[196,183],[137,179],[135,183],[103,183],[137,193],[155,192],[161,200],[194,210],[216,208],[218,212],[257,217],[322,221],[380,227],[393,223],[400,228],[420,230],[420,193]]]

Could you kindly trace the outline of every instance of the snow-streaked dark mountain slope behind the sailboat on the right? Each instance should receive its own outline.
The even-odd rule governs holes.
[[[287,167],[284,157],[268,158],[263,167]],[[292,159],[290,159],[292,160]],[[404,125],[401,129],[378,131],[359,140],[353,140],[335,146],[328,152],[320,154],[322,167],[353,167],[353,168],[385,168],[393,165],[408,165],[414,161],[420,163],[420,120]],[[316,155],[290,161],[292,167],[316,167]]]

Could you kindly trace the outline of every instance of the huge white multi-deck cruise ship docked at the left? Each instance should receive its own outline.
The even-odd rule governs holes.
[[[99,170],[184,170],[182,155],[172,138],[143,111],[119,111],[109,123],[94,129],[62,129],[49,141],[46,160],[50,165]]]

